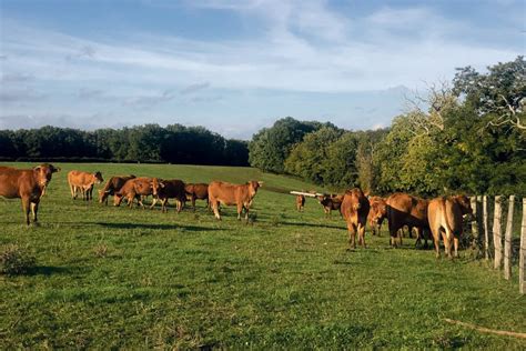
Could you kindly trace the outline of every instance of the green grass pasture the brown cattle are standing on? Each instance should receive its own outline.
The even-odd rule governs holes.
[[[18,164],[19,167],[26,164]],[[0,199],[0,244],[37,258],[29,275],[0,275],[0,349],[214,348],[526,349],[526,340],[452,325],[444,318],[526,332],[517,274],[505,281],[462,251],[455,261],[371,237],[346,251],[344,221],[314,200],[269,189],[313,189],[250,168],[59,164],[27,228],[19,200]],[[253,221],[223,209],[216,221],[71,200],[69,170],[101,170],[189,182],[263,180]]]

